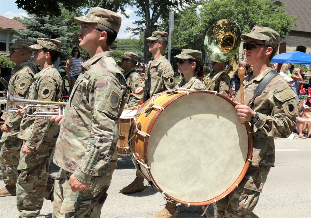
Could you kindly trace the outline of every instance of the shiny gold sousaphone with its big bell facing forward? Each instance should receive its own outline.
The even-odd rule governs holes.
[[[232,20],[223,19],[214,23],[207,31],[204,39],[204,49],[208,57],[214,62],[226,62],[228,66],[217,73],[212,79],[203,78],[207,90],[213,85],[222,73],[231,78],[239,67],[239,46],[241,30]]]

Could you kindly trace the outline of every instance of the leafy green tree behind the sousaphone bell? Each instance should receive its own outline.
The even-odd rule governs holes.
[[[175,14],[172,40],[178,39],[179,48],[200,50],[207,30],[221,19],[235,21],[242,34],[249,33],[254,26],[266,26],[276,30],[283,39],[297,19],[289,16],[285,7],[282,4],[273,10],[274,2],[266,0],[204,0],[199,14],[195,6]]]

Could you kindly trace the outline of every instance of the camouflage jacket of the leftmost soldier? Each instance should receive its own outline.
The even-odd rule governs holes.
[[[16,98],[27,97],[32,78],[37,72],[35,63],[31,61],[23,62],[15,67],[11,72],[8,93]],[[15,108],[16,106],[10,105],[9,107]],[[12,128],[11,131],[19,131],[22,117],[15,112],[4,112],[1,119],[5,121],[8,127]]]

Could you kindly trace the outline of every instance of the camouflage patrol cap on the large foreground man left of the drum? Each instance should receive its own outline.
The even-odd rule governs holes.
[[[74,19],[78,25],[82,25],[82,23],[100,23],[117,33],[121,26],[121,17],[118,14],[101,7],[93,7],[87,12],[86,16],[75,17]]]

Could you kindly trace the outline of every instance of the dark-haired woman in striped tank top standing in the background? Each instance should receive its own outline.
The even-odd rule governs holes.
[[[80,57],[80,51],[77,47],[74,47],[71,51],[71,58],[66,63],[66,74],[69,83],[69,95],[76,83],[78,76],[81,73],[81,64],[83,60]]]

